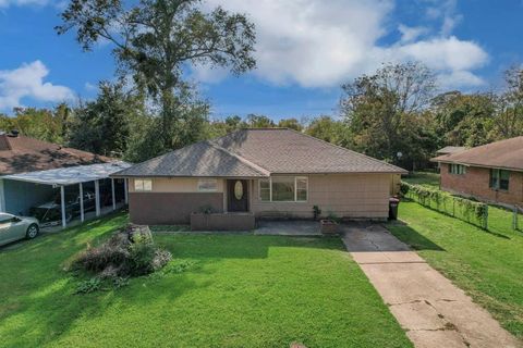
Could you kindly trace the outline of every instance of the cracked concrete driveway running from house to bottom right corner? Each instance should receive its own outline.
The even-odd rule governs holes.
[[[522,347],[463,290],[381,225],[344,227],[343,241],[415,347]]]

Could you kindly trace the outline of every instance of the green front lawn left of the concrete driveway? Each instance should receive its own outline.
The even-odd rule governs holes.
[[[66,260],[125,221],[0,251],[0,346],[412,347],[339,238],[157,235],[160,275],[73,295]]]

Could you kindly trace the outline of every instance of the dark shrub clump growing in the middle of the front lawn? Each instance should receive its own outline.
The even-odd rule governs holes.
[[[88,247],[73,260],[71,270],[94,274],[77,288],[77,293],[92,293],[102,284],[120,287],[130,277],[156,272],[171,259],[169,251],[156,247],[147,226],[130,224],[102,245]]]

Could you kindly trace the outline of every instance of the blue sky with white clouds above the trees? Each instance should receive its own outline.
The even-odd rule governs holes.
[[[63,1],[0,0],[0,112],[96,96],[113,77],[111,47],[82,52],[59,37]],[[208,0],[246,12],[258,32],[258,69],[241,77],[197,66],[191,78],[216,119],[336,114],[343,82],[382,62],[418,60],[442,89],[499,88],[523,62],[521,0]]]

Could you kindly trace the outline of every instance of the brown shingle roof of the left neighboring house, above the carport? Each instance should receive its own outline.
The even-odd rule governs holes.
[[[109,158],[57,144],[0,134],[0,175],[109,161]]]

